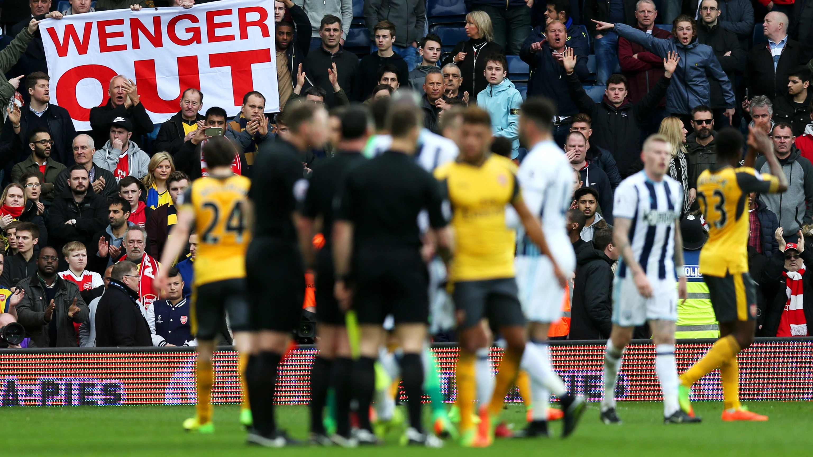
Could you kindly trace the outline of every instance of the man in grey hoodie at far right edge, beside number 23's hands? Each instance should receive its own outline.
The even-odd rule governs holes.
[[[813,207],[806,204],[813,202],[813,164],[793,145],[796,137],[787,122],[774,125],[772,139],[776,159],[788,177],[788,190],[782,194],[763,194],[761,198],[767,209],[776,214],[788,237],[795,240],[801,225],[813,224]],[[764,155],[757,158],[754,168],[761,173],[770,172]]]

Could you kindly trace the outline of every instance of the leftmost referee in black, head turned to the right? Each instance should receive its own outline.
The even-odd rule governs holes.
[[[254,229],[246,253],[252,346],[246,384],[254,428],[246,441],[269,447],[298,444],[276,428],[277,365],[302,316],[305,266],[299,249],[298,201],[305,197],[302,155],[328,139],[328,113],[314,105],[285,111],[288,141],[267,141],[254,163],[249,198]],[[228,217],[228,215],[224,215]]]

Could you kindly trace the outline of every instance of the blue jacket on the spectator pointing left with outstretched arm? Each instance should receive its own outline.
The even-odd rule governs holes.
[[[720,83],[727,108],[734,107],[734,92],[711,46],[701,45],[693,39],[684,46],[676,38],[656,38],[649,33],[625,24],[615,24],[615,33],[627,38],[662,58],[667,52],[677,51],[675,77],[666,94],[666,109],[672,114],[688,115],[698,105],[711,106],[709,78]]]

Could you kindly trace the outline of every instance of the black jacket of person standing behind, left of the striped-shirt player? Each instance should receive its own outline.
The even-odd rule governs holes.
[[[604,340],[612,329],[612,264],[603,250],[585,246],[576,255],[576,279],[570,307],[572,340]]]

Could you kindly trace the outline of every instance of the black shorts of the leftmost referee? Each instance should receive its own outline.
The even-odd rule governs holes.
[[[296,329],[305,301],[305,266],[296,244],[252,240],[246,252],[246,282],[252,330]]]

